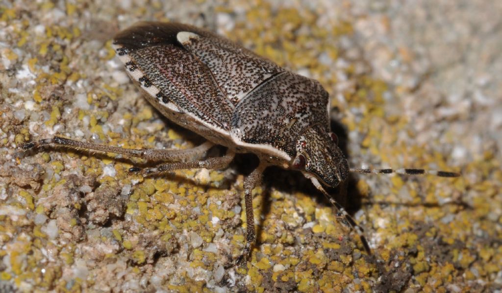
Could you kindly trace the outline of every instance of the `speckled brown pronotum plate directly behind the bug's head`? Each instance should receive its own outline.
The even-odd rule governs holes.
[[[319,82],[286,71],[249,93],[235,107],[230,135],[236,141],[271,145],[293,157],[305,129],[329,132],[328,93]]]

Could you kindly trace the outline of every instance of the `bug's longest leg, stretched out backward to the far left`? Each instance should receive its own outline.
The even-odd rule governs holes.
[[[41,147],[64,147],[77,150],[92,150],[98,152],[110,152],[122,154],[130,157],[137,157],[152,161],[181,161],[189,159],[197,155],[204,154],[214,144],[205,142],[197,147],[186,150],[163,150],[163,149],[126,149],[116,146],[107,146],[90,142],[82,142],[78,140],[68,139],[60,136],[53,138],[41,139],[21,145],[23,150],[30,150]]]

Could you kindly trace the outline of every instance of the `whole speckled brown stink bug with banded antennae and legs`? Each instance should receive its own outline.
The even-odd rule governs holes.
[[[268,166],[301,171],[334,205],[342,222],[358,233],[368,253],[362,228],[323,185],[336,187],[346,182],[349,172],[458,176],[423,169],[350,169],[330,130],[329,97],[319,82],[203,29],[142,22],[118,33],[113,47],[146,99],[171,121],[207,142],[189,150],[124,149],[53,137],[22,148],[63,146],[170,161],[153,168],[130,169],[143,176],[175,169],[224,168],[235,153],[255,153],[260,164],[244,182],[247,231],[241,259],[246,259],[255,243],[252,190]],[[184,161],[214,145],[226,147],[226,154]]]

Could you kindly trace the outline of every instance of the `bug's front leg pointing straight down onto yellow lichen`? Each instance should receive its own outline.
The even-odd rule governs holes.
[[[251,252],[251,248],[256,242],[255,232],[255,215],[253,212],[253,194],[252,191],[262,182],[263,171],[268,167],[265,162],[260,162],[260,165],[247,176],[244,181],[244,202],[246,211],[246,244],[242,254],[236,259],[236,263],[246,262]]]

